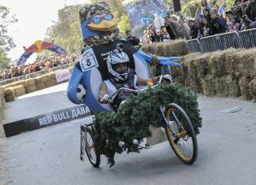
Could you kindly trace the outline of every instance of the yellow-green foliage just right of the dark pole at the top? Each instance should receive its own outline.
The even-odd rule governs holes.
[[[201,13],[200,1],[188,2],[182,6],[182,13],[185,17],[196,17]]]

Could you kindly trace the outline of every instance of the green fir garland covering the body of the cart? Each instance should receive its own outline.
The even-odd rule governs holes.
[[[100,153],[107,157],[107,163],[115,165],[115,152],[123,150],[139,153],[133,144],[137,139],[152,135],[149,125],[160,127],[163,118],[160,115],[160,105],[171,102],[183,107],[194,125],[194,131],[199,134],[201,128],[200,110],[198,109],[197,94],[189,88],[181,87],[178,83],[162,83],[156,88],[149,88],[137,95],[132,94],[128,101],[120,107],[119,112],[102,112],[94,117],[94,134]],[[122,148],[119,142],[124,142]]]

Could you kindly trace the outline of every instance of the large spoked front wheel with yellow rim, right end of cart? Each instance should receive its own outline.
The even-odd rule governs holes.
[[[198,141],[190,118],[175,103],[166,107],[164,115],[169,124],[165,125],[165,131],[172,150],[183,163],[193,164],[198,157]]]

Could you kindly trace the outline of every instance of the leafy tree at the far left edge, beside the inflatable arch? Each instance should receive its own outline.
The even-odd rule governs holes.
[[[13,38],[8,35],[8,27],[17,22],[17,18],[9,13],[9,8],[0,6],[0,65],[2,68],[6,68],[10,61],[7,52],[15,47]]]

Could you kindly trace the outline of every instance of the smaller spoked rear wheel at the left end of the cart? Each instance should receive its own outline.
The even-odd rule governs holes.
[[[85,152],[87,154],[88,160],[94,167],[99,167],[100,165],[100,150],[96,146],[94,135],[91,128],[85,129]]]

